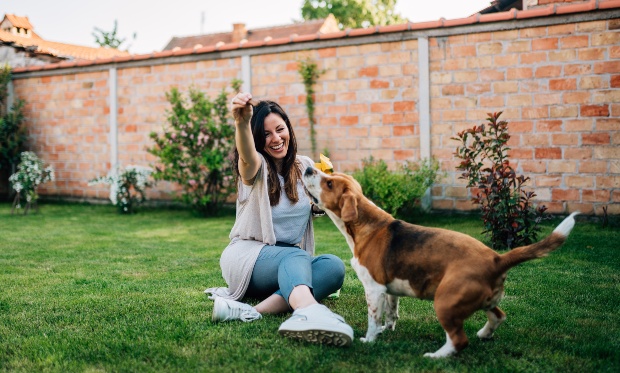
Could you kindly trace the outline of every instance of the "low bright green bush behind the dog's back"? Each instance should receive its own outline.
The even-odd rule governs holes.
[[[390,171],[383,160],[370,157],[364,159],[363,167],[353,177],[377,206],[404,217],[419,205],[420,198],[439,177],[439,164],[435,160],[405,162],[396,171]]]

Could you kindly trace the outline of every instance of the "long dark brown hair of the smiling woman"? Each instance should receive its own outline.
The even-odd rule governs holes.
[[[261,153],[267,161],[269,168],[268,173],[268,188],[269,188],[269,204],[275,206],[280,202],[280,194],[282,193],[282,187],[280,186],[280,180],[278,179],[278,168],[273,158],[265,151],[265,118],[271,114],[279,115],[289,133],[289,143],[286,155],[282,160],[282,177],[284,178],[284,191],[286,196],[291,202],[296,203],[299,201],[297,195],[297,181],[301,179],[301,172],[297,162],[297,140],[295,139],[295,132],[293,132],[293,126],[288,119],[288,115],[284,112],[284,109],[273,101],[261,101],[256,107],[254,107],[254,113],[250,120],[250,128],[252,129],[252,137],[254,138],[254,147],[256,151]],[[235,148],[235,156],[233,159],[233,170],[235,172],[236,179],[239,180],[241,175],[239,174],[239,151]]]

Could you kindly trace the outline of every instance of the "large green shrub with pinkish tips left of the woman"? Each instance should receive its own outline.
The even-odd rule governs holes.
[[[233,82],[238,90],[240,81]],[[149,153],[159,158],[156,180],[178,183],[181,200],[201,215],[214,215],[234,190],[230,154],[234,126],[229,119],[225,90],[211,101],[195,88],[189,102],[176,89],[166,94],[172,109],[169,127],[162,134],[151,133],[155,146]]]

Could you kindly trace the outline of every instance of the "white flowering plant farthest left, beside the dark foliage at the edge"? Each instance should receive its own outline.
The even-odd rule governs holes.
[[[43,161],[33,152],[22,152],[17,172],[9,177],[11,187],[17,193],[13,202],[13,211],[15,208],[22,207],[22,198],[26,200],[24,213],[28,212],[31,205],[36,206],[36,201],[39,199],[37,188],[54,179],[54,169],[51,166],[44,167]]]

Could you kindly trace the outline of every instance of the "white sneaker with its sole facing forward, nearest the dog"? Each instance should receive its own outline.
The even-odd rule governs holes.
[[[278,332],[285,337],[334,346],[349,346],[353,342],[353,329],[342,316],[322,304],[295,310]]]

